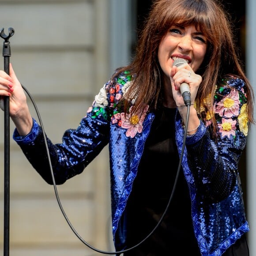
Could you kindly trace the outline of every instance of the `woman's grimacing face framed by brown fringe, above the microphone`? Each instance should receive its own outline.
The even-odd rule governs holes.
[[[175,58],[187,60],[194,72],[200,67],[207,51],[207,38],[195,26],[172,26],[158,48],[158,60],[169,79]]]

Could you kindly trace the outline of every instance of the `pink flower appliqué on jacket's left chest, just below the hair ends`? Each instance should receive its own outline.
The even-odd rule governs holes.
[[[141,113],[141,115],[133,115],[127,113],[126,115],[124,113],[121,113],[121,120],[122,124],[121,127],[128,129],[126,132],[127,137],[134,138],[137,134],[137,132],[141,133],[143,128],[143,121],[146,117],[146,113],[149,106],[146,105]],[[132,107],[129,109],[129,112],[131,113]]]

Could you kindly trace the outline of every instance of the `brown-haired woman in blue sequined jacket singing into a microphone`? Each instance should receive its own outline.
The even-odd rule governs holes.
[[[174,65],[177,58],[185,63]],[[189,86],[191,105],[181,83]],[[11,66],[10,75],[0,72],[0,92],[10,96],[14,139],[52,184],[42,129]],[[118,252],[126,250],[163,215],[186,136],[161,225],[124,256],[247,256],[238,163],[254,122],[253,100],[221,5],[157,0],[132,63],[114,73],[61,144],[48,140],[56,184],[82,173],[109,143],[113,239]]]

